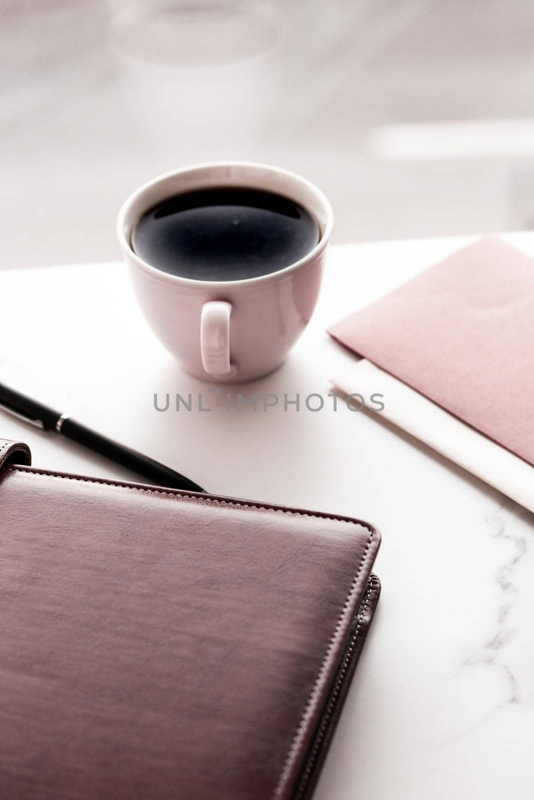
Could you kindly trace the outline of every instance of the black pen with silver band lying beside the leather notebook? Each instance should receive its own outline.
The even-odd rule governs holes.
[[[30,425],[42,430],[53,430],[57,434],[72,439],[78,445],[88,447],[94,453],[110,458],[116,464],[142,475],[148,482],[156,486],[185,489],[191,492],[204,491],[201,486],[186,478],[185,475],[160,464],[154,458],[148,458],[137,450],[114,442],[113,439],[108,439],[80,422],[76,422],[70,414],[62,414],[60,411],[44,406],[38,400],[32,400],[32,398],[26,397],[26,394],[10,389],[3,383],[0,383],[0,406],[14,417],[22,419],[23,422],[29,422]]]

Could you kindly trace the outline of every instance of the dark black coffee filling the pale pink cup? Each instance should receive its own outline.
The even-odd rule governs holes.
[[[178,194],[148,210],[131,246],[158,270],[198,281],[258,278],[300,260],[319,242],[319,226],[279,194],[227,188]]]

